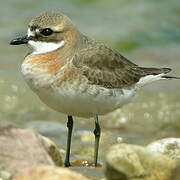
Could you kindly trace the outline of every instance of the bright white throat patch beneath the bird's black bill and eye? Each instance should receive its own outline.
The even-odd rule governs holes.
[[[41,54],[51,51],[55,51],[65,45],[65,41],[62,40],[58,43],[54,42],[42,42],[42,41],[28,41],[29,47],[33,50],[32,54]]]

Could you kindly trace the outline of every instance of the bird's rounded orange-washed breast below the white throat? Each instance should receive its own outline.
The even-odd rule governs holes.
[[[55,54],[30,54],[22,63],[21,71],[27,84],[38,90],[52,83],[59,68],[60,62],[55,59]]]

